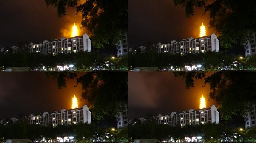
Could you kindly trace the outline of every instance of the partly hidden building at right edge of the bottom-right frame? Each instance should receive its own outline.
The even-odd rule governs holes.
[[[244,124],[245,128],[248,127],[256,127],[256,106],[250,108],[250,112],[246,113],[246,116],[244,117]]]

